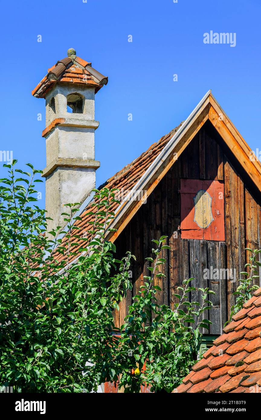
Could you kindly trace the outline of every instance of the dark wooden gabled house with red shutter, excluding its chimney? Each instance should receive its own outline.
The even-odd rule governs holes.
[[[143,276],[152,239],[168,236],[170,251],[159,302],[173,307],[174,294],[184,278],[193,286],[216,292],[205,314],[213,336],[228,320],[233,292],[252,249],[261,248],[261,165],[242,136],[208,92],[186,121],[123,168],[106,184],[132,191],[116,211],[113,227],[117,257],[127,250],[132,264],[133,291],[120,304],[120,326]],[[135,191],[136,199],[133,199]],[[259,279],[256,279],[259,284]],[[195,291],[192,300],[200,300]]]

